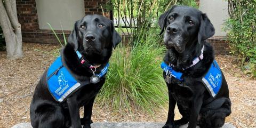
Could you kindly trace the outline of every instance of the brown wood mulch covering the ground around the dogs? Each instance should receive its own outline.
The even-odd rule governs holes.
[[[6,52],[0,52],[0,127],[30,122],[29,105],[38,79],[54,60],[54,56],[35,49],[51,52],[59,45],[23,44],[24,57],[7,60]],[[217,61],[229,85],[232,113],[226,118],[237,127],[256,127],[256,81],[243,74],[231,55],[217,55]],[[82,111],[82,109],[81,109]],[[81,112],[82,113],[82,112]],[[83,114],[81,114],[83,115]],[[175,118],[179,118],[178,115]],[[154,114],[142,111],[118,113],[107,106],[93,107],[94,122],[165,122],[167,108],[159,108]]]

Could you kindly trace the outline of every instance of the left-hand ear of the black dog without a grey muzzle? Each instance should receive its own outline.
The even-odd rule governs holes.
[[[78,24],[78,21],[76,21],[72,33],[68,36],[68,43],[74,47],[75,52],[78,49],[77,24]]]

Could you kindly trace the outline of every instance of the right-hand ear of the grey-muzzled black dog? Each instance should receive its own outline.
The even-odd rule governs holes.
[[[205,13],[202,13],[201,23],[198,30],[198,43],[201,43],[207,38],[215,34],[215,29]]]

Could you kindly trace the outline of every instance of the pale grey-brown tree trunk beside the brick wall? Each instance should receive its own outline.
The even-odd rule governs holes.
[[[3,29],[8,59],[18,59],[23,56],[21,25],[18,22],[16,1],[0,0],[0,26]]]

